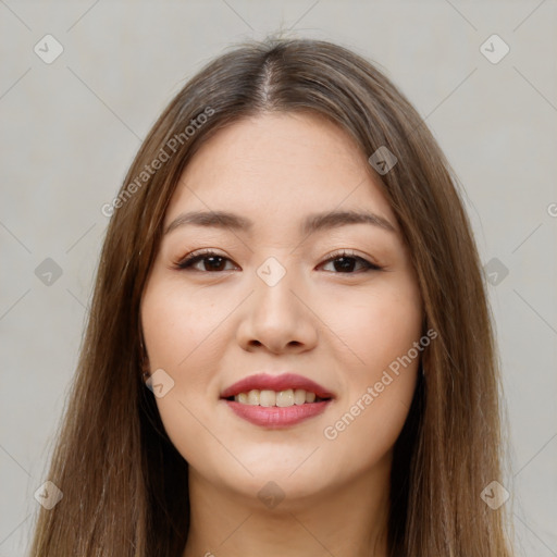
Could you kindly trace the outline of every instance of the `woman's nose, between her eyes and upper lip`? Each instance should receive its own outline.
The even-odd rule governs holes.
[[[301,283],[294,272],[286,272],[276,284],[268,284],[255,273],[253,292],[236,333],[245,350],[299,354],[315,346],[319,319]]]

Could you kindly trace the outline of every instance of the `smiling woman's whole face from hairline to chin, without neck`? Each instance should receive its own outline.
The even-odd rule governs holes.
[[[389,468],[422,302],[368,165],[325,120],[265,114],[181,177],[141,322],[162,422],[200,482],[295,499]]]

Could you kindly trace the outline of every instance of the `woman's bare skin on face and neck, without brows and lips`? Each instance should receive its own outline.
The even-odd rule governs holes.
[[[409,252],[369,169],[332,123],[275,113],[220,131],[181,177],[164,227],[193,210],[253,221],[250,232],[183,225],[164,235],[141,301],[149,369],[174,381],[157,405],[189,463],[184,557],[386,556],[393,446],[419,358],[334,440],[324,435],[422,333]],[[372,211],[394,231],[359,223],[300,233],[308,214],[333,210]],[[202,248],[225,259],[176,269]],[[342,249],[383,269],[325,262]],[[257,273],[270,257],[286,271],[272,287]],[[297,425],[253,425],[220,394],[263,371],[299,373],[336,397]],[[272,507],[258,497],[270,481],[284,495]]]

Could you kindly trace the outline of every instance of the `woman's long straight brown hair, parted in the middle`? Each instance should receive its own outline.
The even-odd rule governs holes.
[[[189,527],[187,462],[141,380],[140,297],[165,209],[188,161],[223,126],[267,111],[335,122],[366,157],[398,163],[381,184],[409,247],[424,301],[424,350],[396,442],[391,555],[508,557],[502,483],[500,377],[481,264],[458,181],[424,122],[369,61],[327,41],[268,38],[235,46],[171,101],[143,143],[104,240],[78,369],[40,509],[33,557],[180,557]],[[154,161],[158,160],[159,163]]]

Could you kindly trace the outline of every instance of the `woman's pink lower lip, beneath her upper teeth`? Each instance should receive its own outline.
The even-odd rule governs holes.
[[[244,405],[235,400],[225,400],[225,403],[236,416],[244,418],[244,420],[255,425],[276,429],[296,425],[313,416],[319,416],[325,411],[331,400],[287,407]]]

